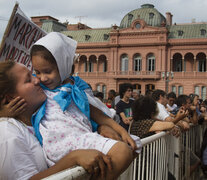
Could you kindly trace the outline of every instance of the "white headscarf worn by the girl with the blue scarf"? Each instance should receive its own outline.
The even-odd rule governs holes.
[[[51,32],[34,45],[44,46],[54,56],[62,82],[69,77],[77,47],[76,41],[62,33]]]

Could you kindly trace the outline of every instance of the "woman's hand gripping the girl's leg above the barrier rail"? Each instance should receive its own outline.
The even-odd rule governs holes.
[[[112,162],[109,156],[104,155],[97,150],[76,150],[71,153],[77,154],[77,165],[82,166],[88,173],[94,177],[101,175],[102,178],[106,177],[107,170],[112,171]]]

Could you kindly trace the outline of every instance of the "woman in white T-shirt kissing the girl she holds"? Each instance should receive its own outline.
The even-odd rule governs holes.
[[[8,104],[20,96],[25,99],[26,111],[15,119],[0,121],[1,179],[41,179],[74,165],[83,166],[95,176],[105,176],[111,170],[111,160],[96,150],[76,150],[47,169],[41,146],[33,135],[31,116],[45,101],[39,80],[24,66],[13,61],[0,63],[0,102]],[[99,167],[99,168],[96,168]]]

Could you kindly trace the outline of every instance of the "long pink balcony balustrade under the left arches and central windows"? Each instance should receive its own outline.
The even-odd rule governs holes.
[[[161,79],[160,71],[110,71],[110,72],[79,72],[80,77],[99,77],[115,79]]]

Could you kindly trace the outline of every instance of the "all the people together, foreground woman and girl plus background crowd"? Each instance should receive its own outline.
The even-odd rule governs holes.
[[[0,62],[0,179],[41,179],[76,165],[92,179],[116,179],[140,153],[140,138],[164,130],[178,137],[207,120],[207,101],[196,94],[141,95],[124,83],[104,102],[73,76],[76,46],[56,32],[38,40],[30,52],[35,74]]]

